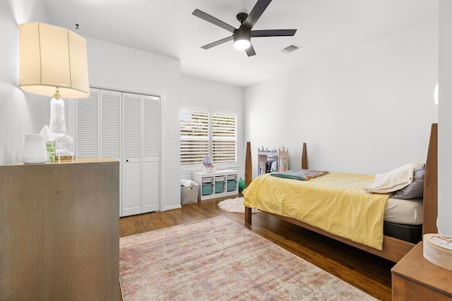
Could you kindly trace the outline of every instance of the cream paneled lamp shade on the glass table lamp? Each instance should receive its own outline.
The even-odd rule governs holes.
[[[44,96],[56,88],[64,98],[89,97],[86,39],[46,23],[25,23],[20,30],[19,87]]]

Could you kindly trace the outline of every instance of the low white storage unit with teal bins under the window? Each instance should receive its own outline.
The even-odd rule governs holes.
[[[233,169],[213,171],[211,173],[196,172],[192,174],[194,181],[199,183],[198,200],[214,199],[238,195],[238,173]]]

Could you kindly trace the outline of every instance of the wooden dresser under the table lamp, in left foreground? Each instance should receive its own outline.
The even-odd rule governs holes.
[[[119,162],[0,166],[0,300],[118,300]]]

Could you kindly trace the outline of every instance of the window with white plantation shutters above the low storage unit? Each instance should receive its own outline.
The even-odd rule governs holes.
[[[213,164],[237,162],[237,116],[213,111],[182,110],[181,164],[202,164],[210,156]]]

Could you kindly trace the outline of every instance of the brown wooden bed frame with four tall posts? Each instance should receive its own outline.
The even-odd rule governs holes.
[[[432,124],[432,130],[430,132],[429,149],[427,153],[427,161],[425,164],[425,176],[424,176],[424,213],[422,221],[422,234],[425,233],[437,233],[436,228],[436,217],[438,216],[438,161],[437,161],[437,133],[438,124]],[[307,152],[306,144],[303,144],[303,154],[302,154],[302,168],[307,168]],[[250,142],[246,142],[246,161],[245,161],[245,186],[248,187],[252,180],[252,166],[251,166],[251,145]],[[267,214],[271,214],[266,212]],[[383,250],[376,250],[372,247],[367,247],[366,245],[359,244],[352,240],[347,240],[346,238],[341,238],[338,235],[333,235],[319,228],[311,226],[302,221],[292,219],[290,217],[280,216],[278,214],[271,214],[273,216],[278,216],[278,218],[290,223],[294,223],[297,226],[307,228],[321,235],[328,236],[340,242],[344,242],[347,245],[352,245],[358,249],[367,251],[372,254],[376,254],[379,257],[386,258],[392,262],[398,262],[402,257],[405,256],[415,244],[411,242],[406,242],[405,240],[400,240],[397,238],[392,238],[391,236],[384,235],[383,238]],[[251,223],[251,208],[245,207],[245,222]]]

